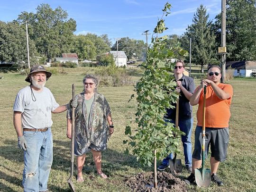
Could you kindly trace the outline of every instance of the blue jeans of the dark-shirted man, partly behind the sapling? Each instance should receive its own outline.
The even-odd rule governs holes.
[[[171,119],[171,123],[175,123]],[[182,135],[182,144],[183,144],[183,152],[185,157],[185,165],[186,167],[192,167],[192,143],[191,143],[191,134],[193,129],[193,118],[187,119],[187,120],[179,120],[179,127],[182,132],[185,133],[185,135]],[[169,159],[173,159],[174,155],[173,153],[169,154],[163,161],[162,164],[165,166],[169,165]]]

